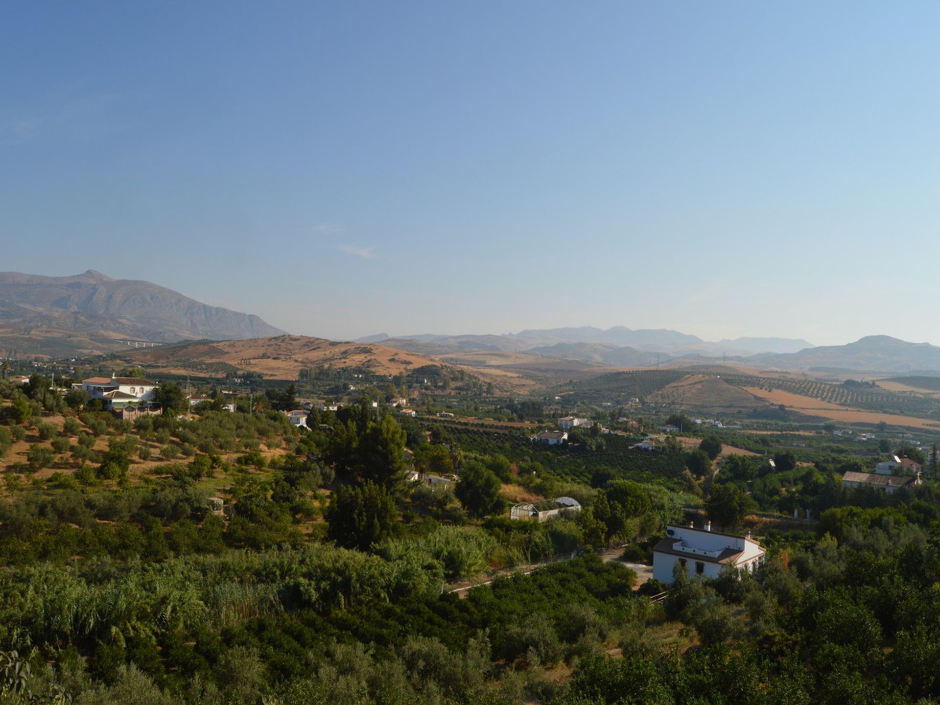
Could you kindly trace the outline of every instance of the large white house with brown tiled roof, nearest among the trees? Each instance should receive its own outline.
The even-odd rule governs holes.
[[[673,567],[678,563],[689,577],[704,575],[716,578],[725,566],[754,572],[767,551],[748,536],[734,536],[693,526],[666,527],[666,539],[652,550],[652,576],[666,585],[673,582]]]

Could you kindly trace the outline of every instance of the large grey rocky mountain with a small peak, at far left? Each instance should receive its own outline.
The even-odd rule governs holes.
[[[118,338],[152,342],[282,335],[258,316],[201,304],[147,281],[94,270],[75,276],[0,273],[0,351],[33,352],[37,338],[75,352]],[[85,350],[90,347],[91,350]]]

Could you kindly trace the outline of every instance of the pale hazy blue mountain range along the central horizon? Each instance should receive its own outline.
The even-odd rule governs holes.
[[[678,331],[666,329],[631,330],[623,326],[614,326],[607,330],[592,326],[525,330],[521,333],[510,333],[504,336],[421,335],[388,337],[380,334],[359,338],[356,342],[381,342],[388,347],[397,347],[402,350],[423,352],[425,354],[442,354],[441,351],[445,348],[447,352],[500,350],[504,352],[533,352],[535,354],[574,357],[591,361],[603,361],[604,356],[608,356],[610,359],[623,360],[639,360],[643,357],[635,356],[634,353],[636,352],[652,353],[651,358],[650,355],[646,355],[643,359],[652,359],[653,361],[655,361],[656,354],[659,354],[661,361],[665,361],[669,357],[687,355],[746,356],[760,352],[798,352],[813,347],[806,340],[784,337],[741,337],[735,340],[725,339],[712,342]],[[579,345],[584,346],[587,343],[610,346],[611,348],[630,348],[631,350],[615,353],[610,349],[577,347]],[[574,345],[575,347],[554,348],[558,345]],[[609,364],[638,365],[641,363],[637,361],[611,362]]]

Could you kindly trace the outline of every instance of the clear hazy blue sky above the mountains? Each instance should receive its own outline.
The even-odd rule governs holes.
[[[292,333],[940,344],[936,2],[45,2],[0,270]]]

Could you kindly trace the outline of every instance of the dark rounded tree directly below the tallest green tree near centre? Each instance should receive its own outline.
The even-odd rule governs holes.
[[[367,551],[395,535],[395,498],[383,486],[368,480],[359,487],[340,487],[330,497],[326,522],[326,535],[337,545]]]

